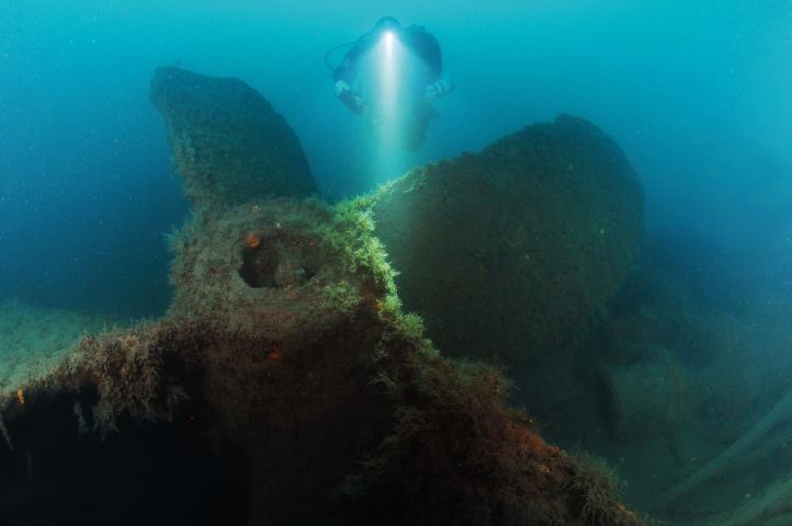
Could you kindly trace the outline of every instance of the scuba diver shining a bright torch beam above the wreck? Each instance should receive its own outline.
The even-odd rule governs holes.
[[[423,142],[430,118],[437,116],[431,103],[453,91],[453,85],[442,78],[443,59],[437,38],[422,26],[403,26],[393,16],[380,19],[374,27],[350,44],[336,46],[325,55],[325,62],[332,70],[336,96],[357,115],[364,115],[376,125],[381,113],[383,89],[376,85],[376,70],[382,57],[376,48],[387,38],[398,42],[406,57],[400,61],[398,79],[392,79],[401,91],[395,104],[405,126],[401,142],[407,149],[416,149]],[[328,57],[336,50],[351,46],[338,67]],[[373,85],[374,84],[374,85]]]

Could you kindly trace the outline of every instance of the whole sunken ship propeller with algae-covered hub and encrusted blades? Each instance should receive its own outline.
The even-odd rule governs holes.
[[[506,198],[489,181],[494,174],[518,187],[529,175],[531,184],[554,185],[557,170],[559,178],[599,176],[586,183],[591,187],[573,184],[558,206],[591,198],[592,188],[633,195],[621,157],[581,161],[597,141],[616,155],[601,133],[563,117],[482,155],[411,173],[374,201],[328,206],[309,196],[315,184],[296,137],[252,89],[177,68],[157,70],[151,88],[194,206],[169,238],[172,305],[161,319],[83,336],[63,361],[2,393],[3,517],[89,525],[643,523],[619,502],[618,482],[601,462],[546,443],[506,403],[509,382],[498,368],[453,358],[493,352],[455,334],[465,323],[546,345],[562,339],[562,324],[577,327],[612,294],[632,250],[612,232],[637,237],[634,203],[625,205],[626,218],[614,208],[619,196],[592,205],[599,215],[553,217],[554,231],[541,231],[531,216],[552,214],[547,204],[509,218],[473,203],[478,187],[488,196],[482,207]],[[554,149],[542,146],[544,135],[554,137]],[[525,171],[527,158],[544,159],[546,170]],[[459,186],[448,184],[453,178]],[[525,187],[504,214],[524,207],[530,194]],[[474,221],[497,211],[483,228],[502,237],[477,249],[486,236],[469,222],[454,235],[441,221],[412,240],[398,231],[434,221],[432,214],[459,220],[467,205]],[[565,238],[576,231],[570,222],[582,230]],[[570,247],[579,240],[582,247]],[[421,270],[415,252],[425,249],[429,266]],[[396,279],[386,250],[401,272]],[[443,250],[449,279],[467,272],[456,283],[468,293],[427,302],[422,288],[444,295],[453,286],[431,268]],[[559,258],[556,274],[525,271],[551,253]],[[590,268],[579,266],[584,253],[596,255]],[[474,262],[467,271],[453,266]],[[564,284],[559,298],[547,299],[555,307],[516,298],[544,279]],[[575,288],[588,282],[592,291]],[[417,313],[403,309],[399,287]],[[542,318],[544,331],[535,321],[487,327],[495,321],[484,309],[498,300],[529,318],[543,309],[559,318]],[[460,315],[464,306],[472,318]],[[509,356],[530,353],[517,343]]]

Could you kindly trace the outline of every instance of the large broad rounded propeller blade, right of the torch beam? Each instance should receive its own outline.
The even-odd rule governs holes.
[[[643,235],[643,192],[624,155],[564,115],[414,170],[373,211],[405,307],[438,346],[508,364],[580,338]]]

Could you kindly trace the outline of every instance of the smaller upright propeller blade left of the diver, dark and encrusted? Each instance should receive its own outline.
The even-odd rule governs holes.
[[[196,207],[316,192],[299,140],[238,79],[158,68],[151,101],[165,118],[184,191]]]

